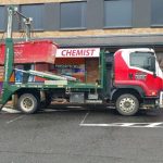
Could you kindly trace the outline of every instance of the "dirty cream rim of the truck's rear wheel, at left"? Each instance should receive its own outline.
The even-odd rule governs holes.
[[[34,101],[33,99],[26,97],[22,100],[21,106],[24,111],[32,111],[34,108]]]

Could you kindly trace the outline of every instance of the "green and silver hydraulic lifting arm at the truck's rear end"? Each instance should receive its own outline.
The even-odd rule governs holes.
[[[13,39],[12,39],[12,27],[13,27],[13,15],[17,13],[25,21],[26,25],[26,40],[30,37],[30,17],[24,16],[22,13],[17,11],[15,7],[8,8],[8,28],[7,28],[7,38],[5,38],[5,61],[4,61],[4,80],[2,87],[2,97],[0,99],[0,109],[8,102],[16,88],[10,85],[10,77],[13,73],[13,63],[14,63],[14,48],[13,48]]]

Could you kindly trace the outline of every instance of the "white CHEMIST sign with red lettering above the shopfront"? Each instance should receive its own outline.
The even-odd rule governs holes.
[[[58,49],[55,58],[99,58],[100,48]]]

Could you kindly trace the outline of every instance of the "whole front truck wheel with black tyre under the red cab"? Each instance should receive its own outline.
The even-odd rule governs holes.
[[[138,99],[130,95],[122,95],[116,100],[116,110],[122,115],[134,115],[139,109]]]

